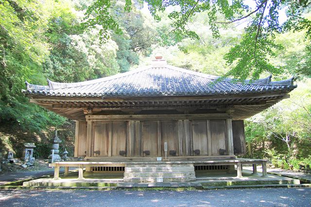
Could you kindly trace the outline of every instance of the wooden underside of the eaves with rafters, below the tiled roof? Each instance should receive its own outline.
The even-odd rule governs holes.
[[[214,109],[230,111],[233,120],[249,118],[280,100],[286,93],[231,97],[178,97],[178,98],[60,98],[31,97],[31,102],[71,120],[86,121],[86,115],[109,115],[116,112],[143,113],[144,111],[175,110],[181,114],[196,113],[195,110]],[[202,112],[201,112],[202,113]]]

